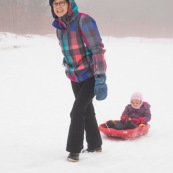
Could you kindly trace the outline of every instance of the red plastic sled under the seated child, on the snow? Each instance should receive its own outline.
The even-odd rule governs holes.
[[[139,136],[145,135],[146,133],[148,133],[149,128],[149,124],[140,124],[135,129],[126,130],[116,130],[113,128],[107,128],[105,123],[99,126],[99,130],[103,132],[105,135],[122,139],[135,139]]]

